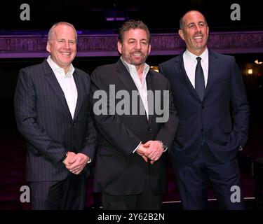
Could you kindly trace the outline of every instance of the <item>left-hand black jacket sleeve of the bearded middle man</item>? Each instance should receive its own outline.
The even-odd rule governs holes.
[[[104,139],[107,139],[114,148],[118,149],[124,156],[128,157],[140,144],[141,140],[123,124],[116,113],[114,115],[109,114],[109,84],[104,81],[104,78],[102,78],[103,76],[107,76],[107,74],[102,74],[96,69],[93,71],[90,78],[90,102],[93,105],[95,126]],[[101,93],[102,99],[95,99],[95,93]],[[107,102],[103,100],[103,97]],[[98,114],[96,112],[97,110],[95,108],[99,106],[99,102],[107,105],[107,111],[105,111],[106,114]]]

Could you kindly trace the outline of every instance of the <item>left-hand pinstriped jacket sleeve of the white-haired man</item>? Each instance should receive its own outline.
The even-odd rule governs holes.
[[[32,76],[22,69],[18,76],[14,98],[18,130],[29,144],[56,164],[67,151],[60,143],[54,141],[37,122],[36,100]]]

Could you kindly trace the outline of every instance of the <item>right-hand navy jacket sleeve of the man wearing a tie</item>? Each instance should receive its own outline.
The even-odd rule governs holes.
[[[248,139],[248,118],[250,111],[243,78],[234,57],[231,76],[231,108],[233,132],[238,143],[243,147]]]

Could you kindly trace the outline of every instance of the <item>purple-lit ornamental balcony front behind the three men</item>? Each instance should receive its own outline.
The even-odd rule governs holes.
[[[46,57],[46,35],[1,35],[0,58]],[[116,34],[79,34],[78,57],[117,56]],[[229,54],[262,53],[263,31],[210,32],[208,47]],[[185,48],[178,34],[152,34],[151,55],[178,55]]]

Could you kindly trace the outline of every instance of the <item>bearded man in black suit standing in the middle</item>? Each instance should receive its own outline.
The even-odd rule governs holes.
[[[102,192],[103,209],[161,208],[164,151],[173,143],[177,118],[168,80],[145,63],[150,49],[147,26],[125,22],[119,30],[121,58],[90,76],[99,133],[95,192]]]

